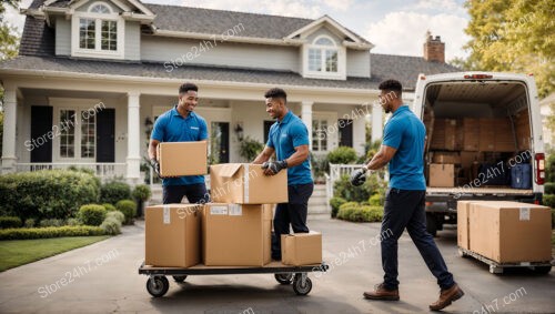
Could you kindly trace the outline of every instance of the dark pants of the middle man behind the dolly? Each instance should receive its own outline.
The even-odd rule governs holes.
[[[309,199],[314,191],[314,184],[295,184],[287,186],[289,203],[275,206],[274,234],[272,236],[272,259],[281,260],[281,235],[290,233],[290,224],[294,233],[306,233],[306,215]]]

